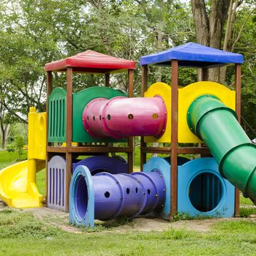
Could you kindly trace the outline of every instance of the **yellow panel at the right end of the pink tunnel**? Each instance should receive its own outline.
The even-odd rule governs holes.
[[[161,138],[154,138],[151,136],[145,137],[146,142],[159,142],[159,143],[166,143],[170,142],[170,122],[171,122],[171,115],[170,115],[170,98],[171,98],[171,88],[167,85],[167,83],[153,83],[149,88],[148,91],[145,92],[144,97],[155,97],[159,95],[164,99],[165,106],[167,109],[167,124],[165,133],[162,135]]]

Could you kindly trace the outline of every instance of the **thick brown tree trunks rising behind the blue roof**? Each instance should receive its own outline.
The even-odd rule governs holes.
[[[191,0],[191,4],[197,42],[211,48],[227,51],[234,50],[247,20],[255,12],[255,5],[244,0],[212,0],[207,2],[205,0]],[[244,10],[246,10],[246,15],[243,25],[236,34],[237,31],[234,30],[236,20],[239,15],[244,13]],[[226,67],[210,69],[209,80],[225,83],[226,69]]]

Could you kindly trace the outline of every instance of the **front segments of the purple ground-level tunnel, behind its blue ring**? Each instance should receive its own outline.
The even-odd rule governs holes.
[[[94,184],[95,219],[117,216],[135,217],[146,204],[145,190],[137,178],[129,174],[98,173]]]

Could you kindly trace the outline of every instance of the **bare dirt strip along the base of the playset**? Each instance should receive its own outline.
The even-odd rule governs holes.
[[[0,201],[0,211],[6,208]],[[63,211],[56,211],[50,208],[28,208],[20,211],[29,211],[35,218],[42,220],[45,223],[61,228],[70,233],[83,233],[78,227],[69,225],[69,214]],[[197,232],[208,232],[213,225],[217,222],[230,221],[230,220],[251,220],[256,222],[256,218],[219,218],[219,219],[193,219],[193,220],[181,220],[179,222],[169,222],[165,219],[157,219],[151,217],[138,217],[133,219],[132,222],[124,225],[116,225],[115,221],[105,222],[105,227],[111,227],[103,229],[102,232],[107,233],[129,233],[129,232],[151,232],[151,231],[163,231],[170,228],[184,229]],[[102,223],[95,221],[96,223]]]

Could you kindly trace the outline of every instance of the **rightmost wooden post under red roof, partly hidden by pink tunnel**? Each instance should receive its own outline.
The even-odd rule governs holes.
[[[134,70],[128,69],[128,97],[133,97],[133,89],[134,89]],[[132,173],[133,170],[133,163],[134,163],[134,138],[129,137],[128,139],[128,146],[132,148],[132,152],[128,153],[128,166],[129,166],[129,173]]]

